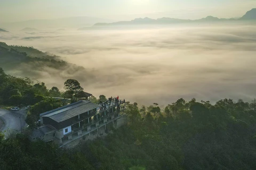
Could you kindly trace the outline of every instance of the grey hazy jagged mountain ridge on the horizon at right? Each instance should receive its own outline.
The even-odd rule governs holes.
[[[174,18],[158,18],[158,19],[150,19],[150,18],[138,18],[131,21],[119,21],[113,23],[95,23],[93,27],[102,27],[109,25],[137,25],[137,24],[172,24],[172,23],[193,23],[193,22],[219,22],[219,21],[236,21],[236,20],[256,20],[256,8],[253,8],[251,11],[248,11],[242,18],[217,18],[214,16],[207,16],[206,18],[198,19],[198,20],[183,20],[183,19],[174,19]],[[79,30],[84,30],[88,28],[81,28]]]

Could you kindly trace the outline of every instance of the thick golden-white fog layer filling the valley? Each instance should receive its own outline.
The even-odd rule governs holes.
[[[0,61],[6,73],[32,77],[49,88],[62,89],[73,78],[94,96],[119,95],[146,105],[166,105],[177,98],[250,101],[256,95],[254,24],[5,32],[0,41],[33,46],[85,68],[69,64],[56,69],[41,62],[4,68]]]

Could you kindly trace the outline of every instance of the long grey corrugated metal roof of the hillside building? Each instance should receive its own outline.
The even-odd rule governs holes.
[[[79,114],[91,111],[92,109],[95,109],[97,107],[100,107],[100,106],[97,104],[91,103],[91,101],[83,101],[81,103],[77,103],[75,105],[70,105],[68,107],[59,109],[55,112],[45,114],[43,115],[43,117],[50,117],[52,120],[59,123],[59,122],[68,120],[71,117],[75,117],[75,116],[78,116]]]

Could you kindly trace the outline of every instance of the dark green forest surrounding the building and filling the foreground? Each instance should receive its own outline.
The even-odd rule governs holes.
[[[20,98],[20,103],[34,105],[32,112],[62,106],[44,98],[63,94],[57,91],[0,72],[0,96],[11,95],[8,102]],[[214,105],[178,99],[164,109],[156,103],[126,107],[127,125],[71,150],[30,142],[27,131],[7,140],[0,135],[0,169],[256,169],[255,99],[251,103],[223,99]]]

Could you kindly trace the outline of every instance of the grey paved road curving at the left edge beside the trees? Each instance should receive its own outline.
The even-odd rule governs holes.
[[[0,131],[3,131],[5,137],[14,130],[20,132],[21,128],[26,126],[26,110],[21,108],[20,111],[7,111],[0,108],[0,118],[4,121],[4,126]]]

